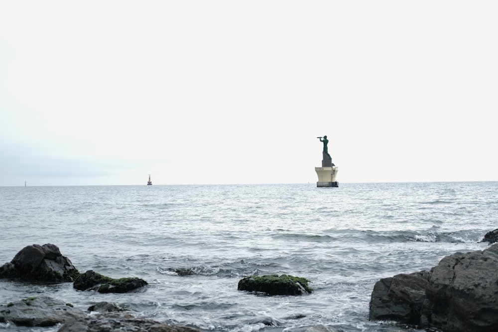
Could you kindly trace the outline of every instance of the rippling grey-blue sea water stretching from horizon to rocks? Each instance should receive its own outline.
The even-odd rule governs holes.
[[[53,243],[80,272],[139,277],[126,294],[0,280],[0,303],[51,296],[86,310],[108,301],[133,315],[201,331],[419,331],[368,320],[375,282],[482,250],[497,227],[498,182],[0,187],[0,264]],[[174,270],[192,269],[189,276]],[[238,291],[249,275],[310,280],[303,296]],[[0,324],[6,331],[57,331]],[[422,331],[422,330],[420,330]]]

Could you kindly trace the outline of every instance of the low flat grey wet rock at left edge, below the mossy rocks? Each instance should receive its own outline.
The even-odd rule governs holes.
[[[0,322],[17,326],[49,327],[83,317],[83,310],[46,296],[0,305]]]

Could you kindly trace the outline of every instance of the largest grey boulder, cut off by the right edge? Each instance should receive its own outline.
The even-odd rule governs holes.
[[[428,324],[445,331],[498,331],[498,244],[457,252],[431,270]]]

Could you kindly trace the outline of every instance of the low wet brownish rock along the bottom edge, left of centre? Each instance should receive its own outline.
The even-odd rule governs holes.
[[[185,326],[172,326],[129,314],[95,315],[67,322],[57,332],[199,332]]]

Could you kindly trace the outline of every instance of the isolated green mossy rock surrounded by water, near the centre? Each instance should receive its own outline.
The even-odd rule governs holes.
[[[250,276],[239,281],[238,290],[262,292],[268,295],[302,295],[313,291],[308,287],[308,282],[308,279],[286,274]]]

